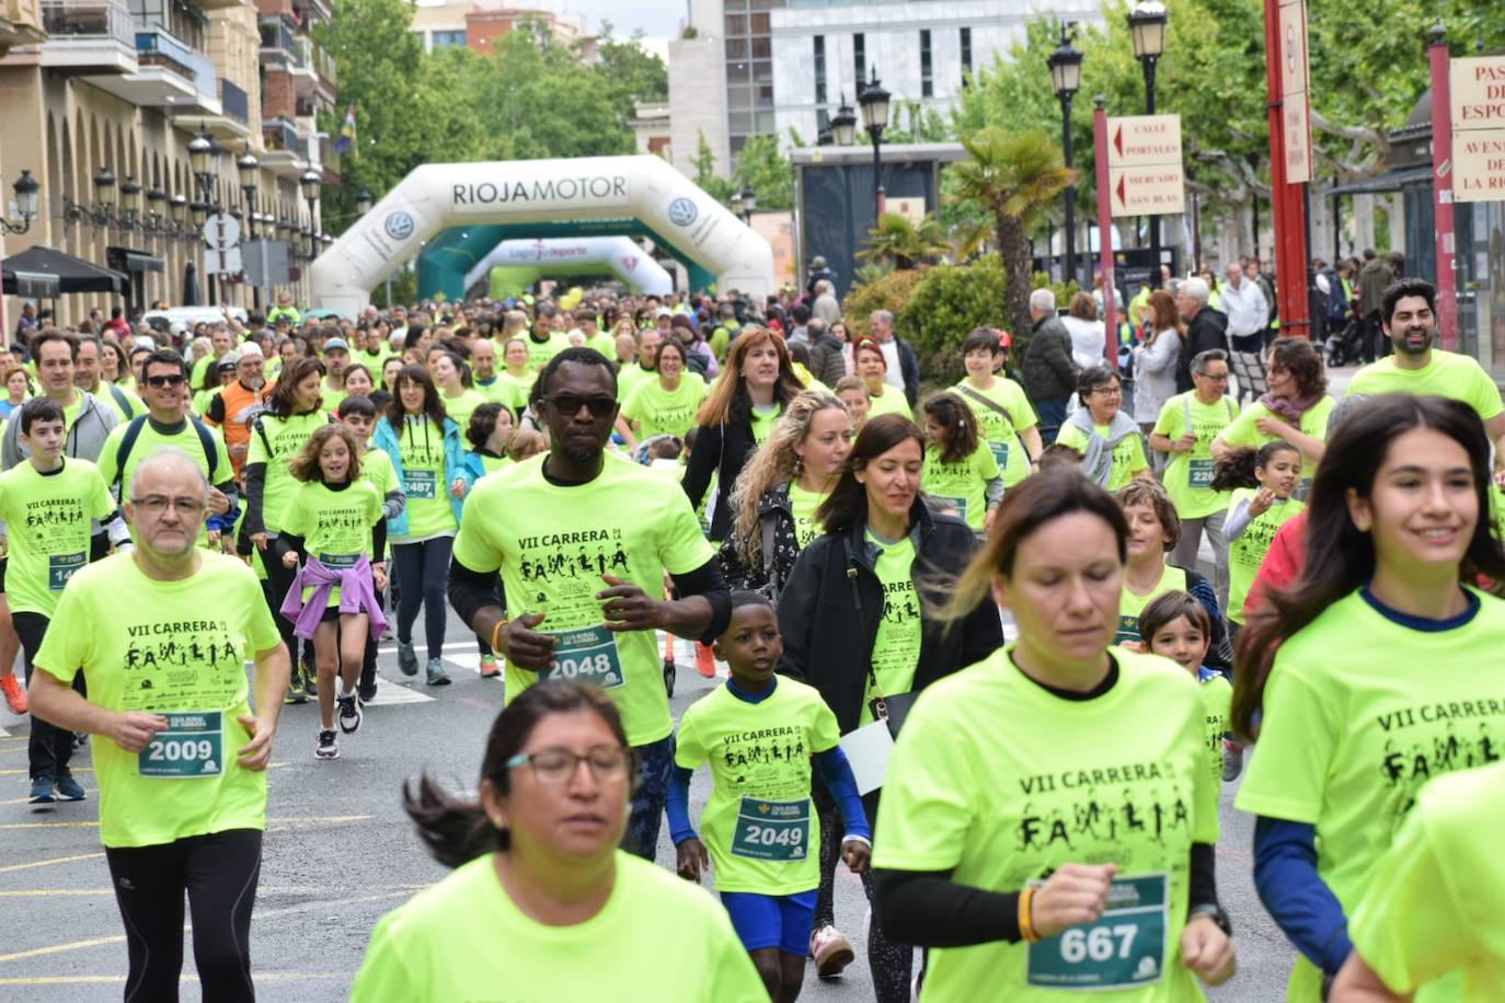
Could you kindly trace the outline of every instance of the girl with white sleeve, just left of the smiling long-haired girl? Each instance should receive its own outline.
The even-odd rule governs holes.
[[[1243,600],[1281,525],[1305,505],[1291,498],[1302,480],[1302,454],[1285,439],[1258,450],[1233,450],[1213,468],[1213,490],[1231,490],[1228,538],[1228,620],[1243,626]]]

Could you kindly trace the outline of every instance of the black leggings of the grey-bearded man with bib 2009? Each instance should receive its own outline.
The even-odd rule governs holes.
[[[184,967],[184,892],[193,911],[193,959],[203,998],[256,998],[251,907],[262,871],[259,829],[185,836],[155,847],[105,847],[104,856],[131,959],[126,1003],[176,1003]]]

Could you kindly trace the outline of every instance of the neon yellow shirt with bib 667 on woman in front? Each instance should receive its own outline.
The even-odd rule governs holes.
[[[951,871],[957,884],[1010,893],[1064,863],[1118,865],[1099,923],[1035,944],[932,949],[927,1001],[1055,1003],[1064,988],[1202,998],[1180,958],[1192,844],[1218,835],[1202,698],[1168,659],[1109,654],[1118,680],[1090,701],[1032,681],[1010,645],[927,687],[909,711],[874,868]]]

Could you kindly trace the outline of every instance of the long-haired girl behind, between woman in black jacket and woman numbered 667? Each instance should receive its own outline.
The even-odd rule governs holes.
[[[1004,501],[1004,474],[978,432],[977,415],[951,391],[927,397],[920,408],[926,418],[926,495],[972,529],[986,529]]]

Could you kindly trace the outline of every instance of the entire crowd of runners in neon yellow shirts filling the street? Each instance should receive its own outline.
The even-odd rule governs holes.
[[[1195,278],[1127,371],[1043,290],[951,386],[820,284],[0,353],[0,690],[38,809],[92,758],[125,998],[178,998],[185,898],[205,998],[254,997],[274,741],[361,756],[388,635],[442,699],[450,611],[500,714],[474,791],[394,782],[453,874],[357,1000],[789,1003],[850,964],[880,1003],[1198,1000],[1237,977],[1234,782],[1299,953],[1269,998],[1505,998],[1505,406],[1431,286],[1336,400],[1302,338],[1231,388]],[[716,678],[677,722],[674,639]]]

